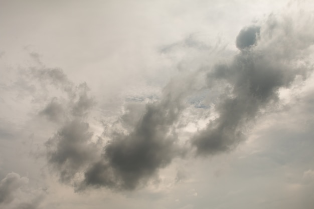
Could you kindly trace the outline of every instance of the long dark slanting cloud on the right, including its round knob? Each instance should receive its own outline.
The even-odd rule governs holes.
[[[264,27],[262,35],[278,33],[285,26],[278,25],[279,29]],[[245,139],[246,129],[258,114],[270,104],[276,104],[279,88],[289,87],[296,76],[305,77],[306,71],[311,70],[306,65],[299,67],[296,64],[301,61],[299,52],[313,43],[313,37],[311,41],[290,48],[289,42],[296,40],[293,33],[285,33],[290,36],[285,37],[285,41],[278,37],[273,43],[262,43],[264,46],[252,48],[258,31],[257,27],[243,29],[236,44],[239,49],[247,50],[237,55],[232,63],[217,65],[208,73],[208,86],[225,85],[226,91],[216,104],[219,116],[192,139],[197,154],[216,154],[237,146]]]

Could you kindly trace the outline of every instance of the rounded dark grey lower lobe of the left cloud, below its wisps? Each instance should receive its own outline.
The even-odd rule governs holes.
[[[74,120],[65,124],[46,143],[48,163],[59,173],[60,181],[70,183],[74,175],[93,161],[95,144],[88,123]]]

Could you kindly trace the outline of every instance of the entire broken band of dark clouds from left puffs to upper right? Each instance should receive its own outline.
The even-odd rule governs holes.
[[[34,71],[68,95],[66,104],[53,98],[40,112],[53,122],[63,121],[46,142],[48,163],[61,182],[77,190],[89,186],[131,190],[158,176],[161,168],[191,148],[202,156],[232,150],[246,139],[254,120],[278,103],[279,90],[289,88],[297,76],[305,79],[311,71],[303,55],[314,36],[303,35],[302,27],[287,30],[289,24],[270,16],[260,26],[245,27],[236,38],[240,52],[230,62],[208,68],[201,89],[224,89],[211,101],[217,117],[184,146],[179,145],[175,125],[189,105],[187,98],[197,93],[197,77],[204,70],[173,79],[161,98],[144,109],[130,108],[134,112],[119,119],[127,130],[112,131],[104,146],[93,142],[89,124],[84,122],[94,105],[87,85],[75,87],[61,70]]]

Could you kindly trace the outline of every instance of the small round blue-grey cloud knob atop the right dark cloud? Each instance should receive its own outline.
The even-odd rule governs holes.
[[[242,29],[236,39],[237,48],[243,50],[256,44],[259,30],[257,26]]]

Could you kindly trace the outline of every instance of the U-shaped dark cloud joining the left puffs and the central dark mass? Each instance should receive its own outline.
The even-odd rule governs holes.
[[[64,80],[59,80],[62,85],[69,83]],[[135,124],[123,115],[122,123],[133,127],[133,130],[126,134],[113,132],[98,156],[100,147],[92,142],[93,133],[89,131],[89,124],[83,122],[84,115],[78,114],[92,107],[92,101],[83,91],[77,102],[68,103],[68,107],[65,107],[67,112],[63,112],[63,115],[74,119],[64,122],[45,144],[48,163],[59,173],[59,180],[72,183],[78,190],[87,186],[134,189],[145,184],[160,168],[169,165],[174,157],[182,156],[184,149],[178,146],[173,125],[184,110],[183,99],[193,89],[194,76],[184,82],[177,79],[169,83],[163,98],[147,104],[145,112]],[[63,89],[69,93],[68,89],[72,88]],[[76,93],[71,92],[71,95]],[[56,109],[62,109],[55,100],[40,112],[54,122],[53,113]],[[79,183],[78,176],[82,172],[84,179]]]

